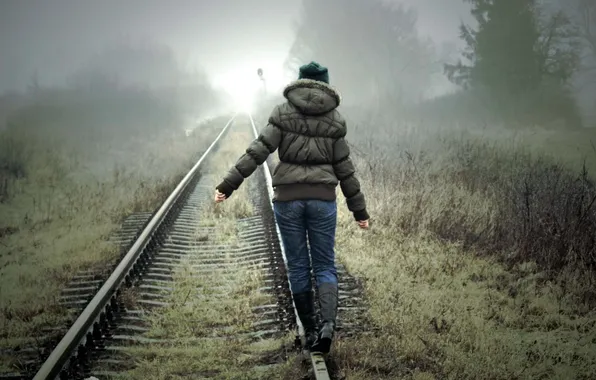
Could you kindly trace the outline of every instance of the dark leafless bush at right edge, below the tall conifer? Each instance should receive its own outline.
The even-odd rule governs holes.
[[[495,205],[494,218],[483,218],[482,233],[464,240],[550,270],[566,265],[594,269],[596,189],[585,166],[572,173],[546,157],[478,142],[457,152],[459,170],[453,180]],[[438,232],[447,231],[438,227]]]

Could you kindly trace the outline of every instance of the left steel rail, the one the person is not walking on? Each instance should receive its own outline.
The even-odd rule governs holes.
[[[189,182],[197,175],[199,168],[209,156],[213,148],[217,145],[220,139],[226,134],[230,125],[232,125],[235,114],[225,125],[223,130],[219,133],[217,138],[211,143],[209,148],[203,153],[201,158],[192,167],[192,169],[186,174],[186,176],[180,181],[178,186],[165,200],[159,210],[151,218],[147,226],[143,229],[137,240],[134,242],[132,247],[128,250],[126,255],[120,261],[116,269],[112,272],[110,277],[106,280],[103,286],[99,289],[97,294],[91,299],[89,304],[81,312],[77,320],[70,327],[68,332],[64,335],[62,340],[51,352],[50,356],[43,363],[39,371],[37,371],[33,380],[46,380],[55,379],[60,375],[62,369],[67,365],[69,359],[71,359],[77,352],[77,348],[81,349],[81,346],[85,344],[88,334],[94,327],[94,324],[99,323],[102,311],[109,306],[110,302],[113,302],[113,297],[116,295],[118,289],[122,286],[123,282],[128,278],[130,271],[138,260],[139,256],[150,242],[154,232],[161,225],[164,218],[176,201],[180,198],[180,195],[186,189]]]

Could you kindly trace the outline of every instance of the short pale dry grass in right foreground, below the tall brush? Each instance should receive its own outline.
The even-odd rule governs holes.
[[[408,379],[418,371],[432,378],[587,379],[593,373],[596,316],[578,315],[561,282],[544,283],[535,265],[508,271],[455,244],[375,228],[346,235],[338,241],[340,260],[367,280],[370,315],[382,331],[337,345],[334,356],[347,378]]]

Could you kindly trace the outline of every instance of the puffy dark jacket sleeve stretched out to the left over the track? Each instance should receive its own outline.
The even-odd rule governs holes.
[[[248,178],[259,165],[279,146],[281,130],[272,123],[261,131],[259,137],[253,140],[246,152],[238,159],[236,164],[225,175],[223,181],[217,185],[220,193],[230,197],[234,190],[238,190],[242,182]]]

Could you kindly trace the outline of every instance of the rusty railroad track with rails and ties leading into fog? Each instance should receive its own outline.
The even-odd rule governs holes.
[[[252,309],[254,322],[250,331],[244,331],[244,337],[260,340],[284,336],[296,330],[302,333],[292,303],[285,254],[272,211],[269,166],[264,164],[243,185],[249,188],[256,212],[237,221],[236,243],[213,241],[209,237],[216,232],[216,226],[201,223],[201,215],[205,208],[212,205],[213,189],[223,174],[209,173],[206,161],[221,144],[226,143],[226,135],[237,119],[234,116],[226,124],[156,212],[133,214],[124,221],[120,232],[111,239],[123,249],[122,259],[111,273],[79,273],[64,289],[62,305],[79,316],[68,331],[60,332],[62,339],[49,356],[43,355],[45,361],[41,366],[34,364],[35,359],[25,363],[29,372],[35,367],[33,379],[110,378],[134,368],[134,363],[125,354],[130,347],[168,344],[170,339],[146,336],[150,330],[149,316],[170,306],[171,295],[175,292],[175,273],[185,268],[190,268],[186,275],[195,278],[214,271],[237,276],[243,268],[258,273],[261,282],[259,291],[267,295],[268,302]],[[246,124],[250,125],[251,133],[256,137],[254,121],[250,115],[247,119],[250,123]],[[368,323],[360,283],[341,265],[338,265],[338,275],[340,307],[337,329],[341,339],[363,332]],[[132,304],[127,301],[131,291],[134,293]],[[202,297],[206,303],[221,303],[226,300],[226,291],[225,287],[214,286],[204,291]],[[212,335],[226,338],[228,333],[235,334],[226,326],[218,326]],[[192,344],[192,339],[189,338],[188,343]],[[42,356],[32,351],[33,356]],[[331,378],[323,356],[309,353],[308,358],[311,378]],[[279,363],[279,358],[262,364],[276,363]],[[31,378],[33,373],[19,378]],[[204,378],[207,377],[204,375]]]

